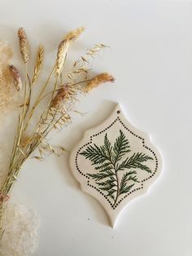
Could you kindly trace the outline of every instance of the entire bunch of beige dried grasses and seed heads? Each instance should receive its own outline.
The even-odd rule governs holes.
[[[32,82],[31,73],[28,73],[29,67],[27,65],[30,53],[28,39],[23,28],[18,30],[20,52],[26,65],[23,70],[24,88],[17,92],[12,82],[12,77],[14,78],[17,89],[20,89],[20,73],[15,66],[10,66],[9,64],[11,49],[8,46],[0,45],[0,113],[3,113],[4,109],[7,111],[9,105],[17,106],[18,110],[18,125],[15,127],[16,131],[11,156],[7,157],[9,161],[7,176],[0,189],[0,244],[4,232],[3,216],[6,207],[4,200],[7,200],[10,196],[11,189],[20,174],[24,162],[30,157],[35,157],[41,161],[47,154],[50,155],[50,153],[60,156],[64,148],[59,148],[58,151],[56,148],[50,146],[48,135],[53,130],[62,130],[63,127],[72,123],[71,113],[78,99],[77,96],[80,93],[89,92],[89,90],[94,89],[103,82],[114,82],[114,78],[109,73],[100,73],[91,79],[87,78],[89,77],[89,68],[86,68],[85,64],[89,64],[89,57],[94,58],[94,55],[104,47],[101,44],[89,49],[86,56],[81,57],[81,63],[74,65],[73,68],[76,68],[76,70],[71,75],[80,74],[77,81],[71,81],[69,83],[68,80],[63,79],[66,76],[66,71],[64,70],[65,73],[62,73],[62,71],[68,47],[78,38],[83,30],[84,28],[81,27],[80,29],[69,32],[63,41],[60,42],[56,64],[54,64],[45,82],[40,85],[40,91],[34,101],[31,101],[35,90],[32,84],[36,81],[41,69],[43,48],[40,48],[37,53],[37,62],[33,69]],[[83,76],[84,79],[82,79],[81,74],[85,74]],[[14,95],[18,98],[17,104],[14,104]],[[45,103],[44,107],[41,104],[42,101]],[[38,115],[39,118],[37,118]],[[34,125],[32,121],[35,121]]]

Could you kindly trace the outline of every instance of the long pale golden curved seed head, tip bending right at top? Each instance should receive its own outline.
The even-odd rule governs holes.
[[[57,60],[56,60],[56,74],[59,74],[62,71],[63,64],[67,55],[68,47],[70,44],[78,38],[78,36],[84,31],[84,27],[76,29],[74,31],[69,32],[66,37],[59,43],[58,52],[57,52]]]

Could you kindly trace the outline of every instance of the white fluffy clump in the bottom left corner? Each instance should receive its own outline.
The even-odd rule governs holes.
[[[24,205],[8,204],[2,238],[3,256],[29,256],[37,248],[39,218]]]

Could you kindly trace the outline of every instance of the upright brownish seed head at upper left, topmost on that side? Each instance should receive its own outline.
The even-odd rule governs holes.
[[[24,63],[27,64],[29,60],[30,47],[24,28],[18,29],[18,37],[20,40],[20,53],[24,59]]]

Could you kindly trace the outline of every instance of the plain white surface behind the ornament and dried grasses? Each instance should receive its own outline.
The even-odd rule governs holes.
[[[0,1],[1,38],[15,46],[24,26],[34,46],[50,53],[63,33],[85,25],[74,51],[104,42],[95,62],[116,84],[83,99],[72,126],[54,143],[72,148],[87,127],[120,102],[129,121],[151,134],[164,170],[150,192],[125,208],[115,229],[94,198],[81,192],[68,155],[28,161],[14,194],[41,218],[35,256],[190,256],[192,254],[192,2],[191,1]],[[33,38],[33,39],[32,39]],[[15,57],[18,57],[15,54]]]

